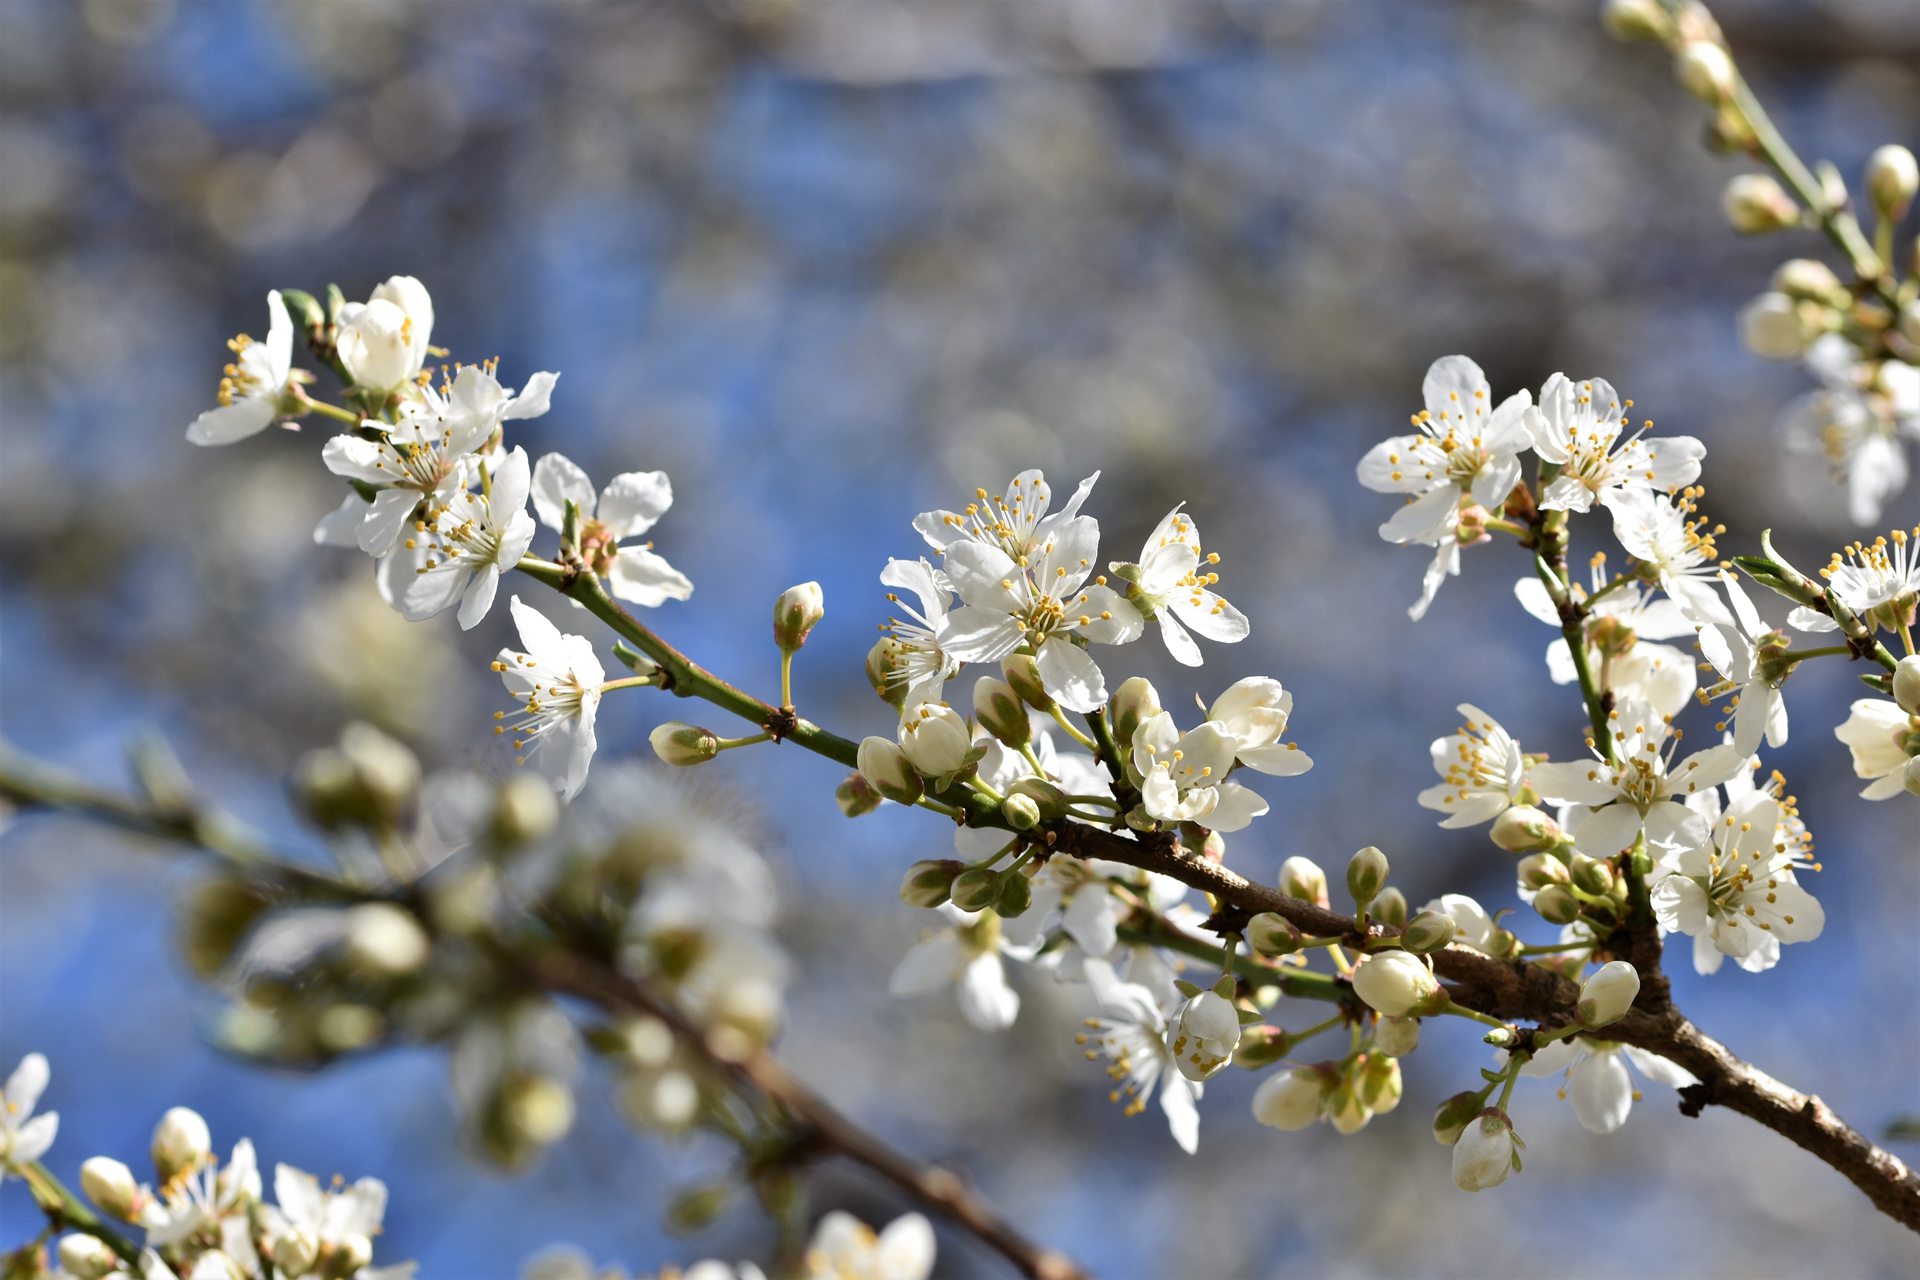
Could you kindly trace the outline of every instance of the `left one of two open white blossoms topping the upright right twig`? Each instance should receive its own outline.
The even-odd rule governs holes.
[[[1419,428],[1394,436],[1359,461],[1359,482],[1375,493],[1405,493],[1411,501],[1380,526],[1390,543],[1432,543],[1453,518],[1461,493],[1488,510],[1521,482],[1521,453],[1532,443],[1528,391],[1498,407],[1486,374],[1465,355],[1444,355],[1421,384],[1427,407],[1413,415]]]

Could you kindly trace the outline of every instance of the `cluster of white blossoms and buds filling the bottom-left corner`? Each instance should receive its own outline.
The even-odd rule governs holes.
[[[386,1184],[334,1178],[323,1186],[311,1173],[275,1165],[273,1201],[263,1197],[253,1144],[234,1144],[225,1163],[213,1153],[205,1119],[173,1107],[154,1128],[154,1182],[138,1182],[125,1163],[94,1155],[81,1165],[81,1190],[98,1215],[84,1224],[63,1205],[38,1159],[54,1142],[60,1117],[33,1115],[48,1084],[46,1057],[29,1054],[6,1084],[0,1117],[0,1182],[23,1178],[50,1213],[83,1226],[54,1242],[48,1268],[46,1238],[0,1261],[6,1274],[61,1280],[407,1280],[413,1263],[374,1267],[374,1238],[386,1217]],[[144,1232],[134,1242],[121,1232]],[[52,1234],[52,1230],[48,1232]]]

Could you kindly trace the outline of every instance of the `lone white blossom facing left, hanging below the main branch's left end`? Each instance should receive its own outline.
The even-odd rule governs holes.
[[[513,622],[526,651],[501,649],[493,658],[515,712],[495,712],[495,733],[513,733],[518,760],[536,760],[563,798],[572,800],[593,764],[593,716],[607,670],[584,635],[563,635],[538,608],[513,597]]]

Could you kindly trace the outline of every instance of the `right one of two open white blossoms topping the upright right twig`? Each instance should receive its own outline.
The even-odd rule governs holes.
[[[1626,436],[1626,407],[1605,378],[1553,374],[1526,415],[1534,453],[1559,474],[1540,493],[1542,510],[1615,507],[1628,493],[1672,493],[1699,480],[1707,447],[1692,436]]]

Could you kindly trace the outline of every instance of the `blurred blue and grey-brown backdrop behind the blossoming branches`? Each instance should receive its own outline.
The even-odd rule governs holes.
[[[1546,681],[1551,633],[1513,603],[1511,549],[1469,553],[1432,614],[1405,620],[1427,555],[1379,541],[1392,499],[1363,493],[1354,462],[1405,426],[1427,363],[1471,353],[1501,395],[1553,370],[1613,378],[1661,430],[1707,439],[1728,551],[1770,524],[1814,566],[1857,533],[1776,447],[1805,376],[1747,355],[1734,326],[1778,261],[1820,246],[1732,236],[1718,192],[1738,169],[1699,146],[1667,58],[1609,42],[1596,10],[6,0],[0,731],[119,781],[127,739],[157,729],[209,794],[296,842],[280,779],[348,720],[434,764],[509,766],[488,731],[503,610],[472,633],[409,626],[363,557],[315,549],[338,497],[323,430],[182,439],[225,338],[263,332],[269,288],[365,297],[409,273],[438,344],[503,357],[513,384],[563,370],[520,436],[532,453],[672,474],[657,549],[697,591],[653,620],[722,674],[770,691],[768,603],[818,578],[829,612],[799,702],[854,737],[887,731],[860,658],[885,618],[877,570],[920,553],[914,512],[1021,466],[1062,487],[1100,468],[1104,553],[1131,557],[1188,499],[1254,620],[1202,672],[1158,647],[1125,656],[1169,706],[1254,672],[1296,691],[1319,768],[1261,781],[1275,814],[1235,839],[1235,864],[1271,879],[1288,854],[1336,867],[1373,842],[1415,904],[1467,889],[1513,906],[1511,860],[1415,806],[1427,743],[1471,699],[1565,758],[1580,706]],[[1718,15],[1809,157],[1851,177],[1874,146],[1920,140],[1910,0]],[[1916,518],[1910,489],[1889,526]],[[1910,802],[1853,798],[1832,727],[1857,685],[1820,666],[1795,676],[1793,741],[1770,764],[1820,842],[1826,935],[1761,977],[1695,979],[1678,948],[1676,986],[1736,1052],[1880,1132],[1920,1107],[1920,837]],[[603,752],[645,752],[666,714],[609,700]],[[1528,1082],[1526,1173],[1457,1194],[1427,1125],[1482,1061],[1465,1029],[1430,1029],[1405,1105],[1352,1140],[1254,1126],[1250,1080],[1223,1075],[1185,1157],[1158,1111],[1106,1105],[1071,1042],[1081,992],[1018,975],[1027,1004],[1002,1038],[950,998],[887,998],[924,925],[895,900],[899,871],[943,835],[899,810],[847,823],[837,779],[799,752],[703,773],[783,869],[783,1054],[1100,1274],[1920,1265],[1824,1165],[1728,1113],[1682,1119],[1661,1086],[1590,1138]],[[0,1061],[50,1055],[60,1173],[136,1157],[188,1103],[221,1150],[248,1134],[265,1161],[386,1178],[382,1255],[428,1276],[507,1276],[561,1240],[641,1270],[764,1255],[751,1211],[668,1236],[660,1205],[722,1153],[636,1138],[593,1090],[574,1136],[507,1176],[461,1150],[436,1054],[319,1077],[225,1059],[159,910],[177,860],[56,819],[4,839]],[[900,1209],[854,1171],[818,1188],[818,1209]],[[0,1242],[35,1224],[17,1186],[0,1194]],[[941,1274],[995,1274],[941,1245]]]

